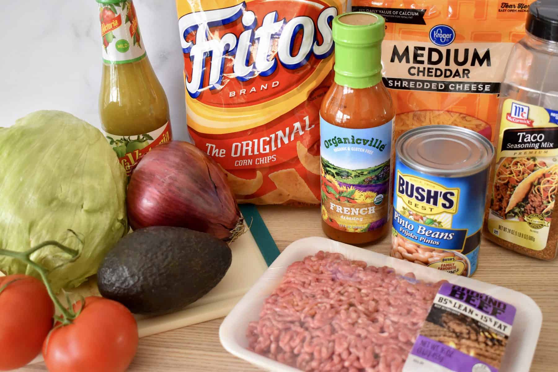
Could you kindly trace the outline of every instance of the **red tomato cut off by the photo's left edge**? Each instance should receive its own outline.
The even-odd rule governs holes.
[[[0,278],[0,371],[20,368],[41,351],[52,328],[54,303],[45,285],[17,274]]]

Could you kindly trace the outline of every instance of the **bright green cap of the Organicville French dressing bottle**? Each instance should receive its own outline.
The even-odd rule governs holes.
[[[335,83],[368,88],[382,80],[382,40],[386,20],[368,12],[352,12],[333,20]]]

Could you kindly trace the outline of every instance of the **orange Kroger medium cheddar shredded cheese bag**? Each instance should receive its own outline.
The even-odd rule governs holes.
[[[386,18],[383,80],[396,106],[395,134],[457,125],[488,139],[513,44],[533,0],[353,0]]]

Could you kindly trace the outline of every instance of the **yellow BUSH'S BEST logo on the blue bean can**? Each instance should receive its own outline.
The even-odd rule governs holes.
[[[407,207],[422,214],[456,214],[459,189],[397,172],[397,196]]]

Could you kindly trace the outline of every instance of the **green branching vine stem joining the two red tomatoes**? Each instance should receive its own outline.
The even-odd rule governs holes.
[[[69,310],[68,308],[62,306],[60,300],[56,297],[54,291],[52,291],[52,287],[50,286],[49,279],[47,278],[47,270],[41,265],[31,260],[31,254],[35,253],[37,250],[41,248],[46,247],[47,245],[54,245],[55,247],[60,248],[65,253],[68,253],[72,257],[72,259],[75,259],[79,255],[79,252],[77,250],[68,248],[64,244],[61,244],[56,240],[43,241],[42,243],[35,245],[35,247],[32,247],[26,250],[25,252],[14,252],[13,250],[0,249],[0,255],[16,258],[21,262],[30,265],[33,269],[37,270],[37,272],[42,278],[43,283],[45,284],[46,291],[49,293],[52,302],[54,302],[56,308],[62,313],[63,323],[68,324],[71,323],[71,321],[73,321],[76,318],[75,313],[72,310]]]

